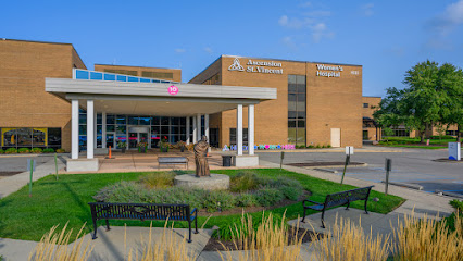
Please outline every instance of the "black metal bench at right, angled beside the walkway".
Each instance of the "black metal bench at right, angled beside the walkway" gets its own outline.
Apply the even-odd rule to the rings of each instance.
[[[325,202],[320,203],[315,202],[309,199],[305,199],[302,201],[302,207],[304,208],[304,217],[302,217],[301,222],[304,222],[305,220],[305,211],[308,209],[322,211],[322,227],[325,228],[325,211],[333,207],[339,207],[347,204],[346,209],[349,209],[350,202],[356,201],[356,200],[365,200],[365,213],[367,214],[368,211],[366,210],[366,203],[368,202],[370,191],[372,190],[372,187],[363,187],[363,188],[355,188],[352,190],[347,190],[342,192],[336,192],[330,194],[326,196]],[[313,206],[306,206],[305,202],[314,203]]]

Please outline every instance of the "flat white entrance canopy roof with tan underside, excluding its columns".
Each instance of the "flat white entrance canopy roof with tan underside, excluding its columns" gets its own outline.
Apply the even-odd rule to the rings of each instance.
[[[71,78],[46,78],[46,91],[79,100],[83,109],[93,100],[96,112],[165,116],[212,114],[276,99],[276,88]]]

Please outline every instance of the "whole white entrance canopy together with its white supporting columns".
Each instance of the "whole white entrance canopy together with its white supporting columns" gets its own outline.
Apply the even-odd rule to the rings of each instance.
[[[93,159],[93,149],[97,148],[97,113],[103,115],[102,148],[105,148],[107,137],[114,137],[111,136],[112,134],[107,136],[104,123],[107,113],[186,117],[186,142],[188,144],[190,117],[193,127],[192,141],[196,142],[201,138],[202,116],[204,116],[204,134],[209,138],[209,114],[232,109],[237,109],[237,152],[238,156],[242,156],[243,105],[248,107],[248,152],[253,156],[254,104],[276,99],[277,94],[276,88],[183,84],[76,69],[73,71],[73,78],[46,78],[46,91],[71,101],[73,160],[78,159],[79,108],[85,109],[87,114],[87,159]],[[114,130],[108,129],[108,132]],[[147,132],[142,134],[148,135]],[[137,135],[140,134],[137,132]],[[138,136],[137,139],[139,139]],[[259,163],[258,158],[252,159],[254,162],[252,164]],[[243,161],[246,163],[246,160]],[[238,165],[240,161],[237,159],[236,162]]]

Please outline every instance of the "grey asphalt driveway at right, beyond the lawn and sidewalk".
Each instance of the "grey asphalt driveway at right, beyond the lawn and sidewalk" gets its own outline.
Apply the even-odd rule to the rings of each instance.
[[[368,147],[365,147],[368,149]],[[259,152],[260,159],[279,163],[279,153]],[[385,159],[392,160],[389,179],[418,184],[425,191],[450,191],[463,195],[463,162],[436,162],[448,157],[447,150],[403,149],[402,152],[361,152],[356,150],[351,161],[365,162],[367,166],[348,166],[346,175],[372,182],[385,179]],[[289,152],[285,153],[284,163],[345,161],[345,152]],[[343,167],[334,167],[337,175],[342,175]],[[340,177],[339,177],[340,181]]]

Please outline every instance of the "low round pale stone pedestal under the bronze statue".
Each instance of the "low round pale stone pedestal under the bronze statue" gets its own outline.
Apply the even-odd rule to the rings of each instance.
[[[230,177],[223,174],[211,174],[209,177],[196,177],[195,174],[175,176],[175,186],[201,188],[205,190],[229,189]]]

